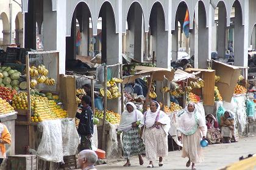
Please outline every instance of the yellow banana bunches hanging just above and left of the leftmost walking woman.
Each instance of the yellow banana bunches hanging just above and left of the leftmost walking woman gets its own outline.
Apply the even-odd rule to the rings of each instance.
[[[116,84],[123,83],[123,80],[121,78],[112,78],[110,81],[107,81],[107,98],[113,99],[121,97],[121,93],[119,92],[119,88]],[[104,97],[104,89],[99,90],[99,94]]]

